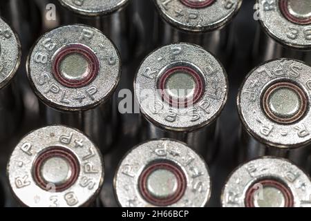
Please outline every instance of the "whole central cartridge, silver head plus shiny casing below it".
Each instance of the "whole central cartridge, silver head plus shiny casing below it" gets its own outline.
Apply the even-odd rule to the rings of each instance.
[[[144,59],[134,87],[142,140],[173,138],[213,158],[228,89],[218,60],[193,44],[164,46]]]

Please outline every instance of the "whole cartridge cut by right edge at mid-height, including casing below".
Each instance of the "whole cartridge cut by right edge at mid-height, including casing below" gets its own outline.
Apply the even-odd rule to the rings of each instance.
[[[305,166],[311,142],[310,73],[300,61],[276,59],[247,75],[237,99],[240,160],[276,155]]]

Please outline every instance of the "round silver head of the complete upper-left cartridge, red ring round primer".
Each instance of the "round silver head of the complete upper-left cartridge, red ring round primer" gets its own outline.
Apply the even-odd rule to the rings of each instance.
[[[68,59],[73,55],[87,65],[71,66],[66,75],[68,68],[62,65],[73,62],[73,57]],[[48,106],[86,111],[111,97],[120,79],[120,66],[119,52],[100,30],[72,25],[51,30],[37,41],[28,56],[27,74],[32,89]],[[77,68],[82,68],[79,76],[73,74]]]

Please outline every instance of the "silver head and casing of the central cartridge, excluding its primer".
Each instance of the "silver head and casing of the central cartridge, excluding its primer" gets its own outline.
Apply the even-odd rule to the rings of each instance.
[[[163,100],[158,81],[170,68],[191,68],[202,82],[202,93],[189,104],[171,105]],[[171,44],[152,52],[140,66],[134,82],[135,97],[142,116],[147,119],[144,138],[170,137],[187,142],[189,146],[206,148],[206,141],[214,137],[218,115],[227,100],[227,75],[223,66],[200,46]],[[187,88],[180,88],[185,92]],[[165,89],[167,90],[167,88]],[[194,103],[194,104],[192,104]],[[144,120],[143,120],[144,121]],[[204,140],[205,142],[200,142]],[[213,140],[213,139],[212,139]],[[201,151],[199,151],[202,153]]]

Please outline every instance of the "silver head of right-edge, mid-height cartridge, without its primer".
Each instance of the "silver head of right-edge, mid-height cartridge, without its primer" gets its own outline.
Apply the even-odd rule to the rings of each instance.
[[[276,59],[254,68],[245,77],[237,98],[238,114],[246,131],[258,142],[277,148],[310,144],[310,71],[311,67],[301,61]],[[290,85],[299,90],[297,97],[302,97],[301,104],[293,117],[269,115],[271,111],[264,108],[267,103],[264,95],[269,95],[267,88],[274,85]],[[285,102],[289,101],[285,99]]]

